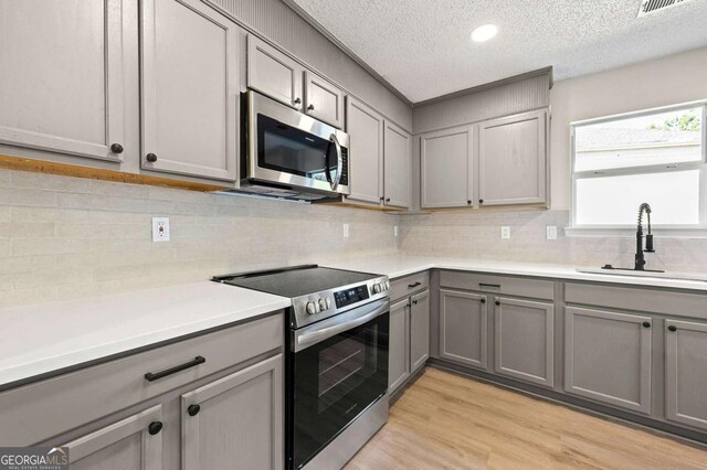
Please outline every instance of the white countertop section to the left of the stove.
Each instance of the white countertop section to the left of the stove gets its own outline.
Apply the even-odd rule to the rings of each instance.
[[[0,386],[287,308],[212,281],[0,309]]]

